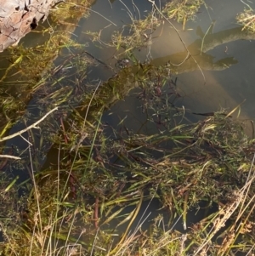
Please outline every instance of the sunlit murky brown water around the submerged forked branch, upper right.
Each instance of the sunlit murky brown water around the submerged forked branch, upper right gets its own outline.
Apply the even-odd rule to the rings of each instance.
[[[214,5],[211,6],[214,10]],[[240,7],[239,4],[235,6],[235,9],[238,9],[238,7]],[[228,17],[225,16],[224,19],[220,17],[216,20],[216,23],[214,21],[216,24],[214,28],[210,27],[212,25],[211,19],[218,18],[218,15],[213,17],[213,14],[215,14],[214,11],[210,18],[206,9],[202,9],[201,14],[197,15],[197,19],[200,20],[199,26],[190,22],[187,25],[189,31],[180,31],[180,35],[194,59],[189,56],[187,58],[187,52],[184,51],[184,46],[180,43],[178,35],[173,28],[165,23],[153,34],[155,39],[149,49],[150,56],[152,56],[151,63],[156,66],[169,62],[173,63],[173,73],[178,74],[179,94],[184,96],[180,104],[184,105],[186,109],[195,112],[210,112],[226,108],[230,111],[246,100],[241,105],[241,118],[252,119],[253,92],[249,84],[252,84],[251,70],[254,61],[252,54],[249,53],[254,51],[252,49],[254,36],[241,31],[241,27],[235,26],[231,29],[225,29],[225,22],[230,19],[230,14]],[[234,21],[235,14],[232,14],[231,17]],[[221,23],[219,24],[219,22]],[[207,27],[205,24],[207,24]],[[224,30],[217,31],[221,25]],[[181,29],[177,24],[175,26],[179,30]],[[160,37],[158,37],[159,35]],[[197,35],[200,38],[197,39]],[[97,51],[96,54],[99,54],[99,59],[108,61],[111,65],[115,64],[115,60],[111,57],[115,54],[114,50],[108,49],[106,55],[104,51],[102,53]],[[143,61],[147,54],[148,50],[144,49],[138,52],[137,56],[139,60]],[[185,58],[188,60],[185,60]],[[179,65],[183,61],[184,63]],[[199,71],[199,67],[201,67],[205,77]],[[245,94],[245,91],[247,94]],[[128,111],[133,113],[139,108],[139,105],[134,105],[133,96],[130,96],[125,99],[122,106],[119,103],[114,111],[125,109],[125,105],[128,106]],[[139,118],[137,117],[137,119]],[[250,127],[247,127],[247,132],[250,133],[249,131]]]

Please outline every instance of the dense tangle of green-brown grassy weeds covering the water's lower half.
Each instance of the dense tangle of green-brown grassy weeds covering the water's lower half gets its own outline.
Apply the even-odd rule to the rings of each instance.
[[[167,82],[154,80],[152,71],[147,82],[162,86],[161,94],[154,95],[157,99],[153,102],[158,105],[158,100],[168,94],[163,89]],[[155,72],[158,78],[158,70]],[[145,76],[146,72],[142,74]],[[143,81],[141,91],[151,95],[154,90],[146,91],[146,80]],[[94,100],[101,98],[97,92],[102,93],[95,90]],[[112,128],[111,136],[106,137],[107,126],[100,121],[101,112],[96,119],[87,119],[98,112],[96,102],[102,104],[90,100],[85,114],[82,109],[74,110],[70,122],[61,124],[61,132],[54,140],[59,157],[50,168],[34,173],[31,159],[31,184],[26,183],[31,192],[23,201],[26,214],[22,214],[20,222],[13,219],[14,229],[9,230],[8,223],[2,222],[6,254],[71,255],[76,251],[102,256],[190,252],[225,255],[237,251],[235,244],[244,252],[250,249],[249,237],[253,234],[249,230],[255,215],[253,144],[243,134],[241,125],[222,111],[195,124],[167,127],[163,133],[150,136],[128,132],[122,120],[122,129]],[[163,107],[153,109],[153,105],[150,110],[158,114],[166,111]],[[168,115],[173,110],[177,111],[169,108]],[[147,233],[142,225],[146,217],[131,229],[141,203],[149,204],[153,198],[168,208],[170,225],[174,216],[181,216],[187,229],[185,236],[167,229],[160,216]],[[218,212],[188,229],[186,215],[201,200],[209,205],[218,203]],[[123,216],[131,206],[133,211]],[[127,225],[119,239],[117,231],[108,228],[113,220],[117,228]],[[222,231],[227,221],[231,223],[231,237]],[[224,237],[222,247],[215,242],[218,232]],[[238,242],[240,236],[246,243]]]

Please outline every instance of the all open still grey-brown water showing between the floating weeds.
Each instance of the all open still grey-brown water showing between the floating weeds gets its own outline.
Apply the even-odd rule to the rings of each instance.
[[[139,9],[139,13],[133,7],[133,2]],[[192,112],[207,113],[219,111],[222,108],[231,111],[241,105],[239,118],[244,121],[254,120],[255,41],[252,36],[241,33],[241,28],[235,20],[236,14],[244,9],[244,4],[241,1],[233,0],[207,0],[206,2],[207,6],[201,7],[195,20],[187,22],[185,31],[182,31],[180,24],[172,21],[179,35],[167,22],[157,27],[153,33],[152,44],[148,48],[137,51],[136,58],[141,62],[147,61],[153,65],[163,65],[167,61],[178,65],[185,58],[185,48],[180,41],[180,36],[194,57],[187,61],[186,66],[177,69],[174,74],[174,77],[177,77],[176,89],[180,95],[175,101],[175,105],[187,113],[187,119],[190,122],[197,120],[198,117],[192,115]],[[156,4],[160,7],[161,3],[157,1]],[[252,5],[252,3],[250,4]],[[255,8],[253,5],[252,8]],[[111,40],[113,31],[121,30],[123,25],[131,23],[129,12],[134,18],[139,15],[142,18],[150,9],[150,3],[145,0],[98,0],[94,2],[88,18],[82,18],[78,20],[77,26],[70,27],[71,37],[74,40],[77,40],[78,43],[88,44],[86,50],[89,54],[112,67],[112,70],[105,68],[104,65],[91,67],[87,81],[106,81],[114,76],[117,54],[119,54],[116,52],[116,48],[105,46],[104,43],[93,42],[88,31],[100,31],[100,39],[107,43]],[[210,26],[212,29],[207,33]],[[202,38],[206,33],[207,40],[205,40],[204,52],[201,53]],[[43,42],[43,40],[43,37],[31,33],[20,43],[23,43],[24,46],[31,46]],[[201,70],[194,60],[200,65]],[[58,59],[55,60],[56,65],[58,61]],[[37,119],[40,109],[39,106],[37,109],[35,105],[37,105],[37,99],[31,99],[27,109],[32,109],[33,116]],[[125,99],[117,101],[115,105],[111,106],[111,109],[105,111],[102,120],[111,127],[117,128],[117,124],[123,118],[125,118],[127,129],[132,130],[133,133],[153,134],[157,132],[155,123],[148,122],[148,117],[142,111],[142,104],[137,97],[136,88],[131,90]],[[17,124],[10,133],[19,131],[20,128],[23,126]],[[252,135],[249,122],[246,122],[246,132]],[[13,144],[18,144],[20,149],[26,148],[26,143],[22,139],[8,141],[8,145]],[[42,159],[43,162],[44,159]],[[148,211],[153,212],[156,208],[160,208],[157,202],[152,202]],[[167,213],[163,212],[163,214]],[[191,216],[188,217],[190,223],[197,221],[195,219],[197,217],[194,217],[195,213],[189,216]],[[181,220],[179,224],[181,224]],[[180,227],[179,229],[181,230]]]

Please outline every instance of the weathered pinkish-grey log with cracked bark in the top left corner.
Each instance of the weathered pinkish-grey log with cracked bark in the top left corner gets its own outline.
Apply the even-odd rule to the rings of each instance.
[[[0,0],[0,52],[44,21],[58,0]]]

